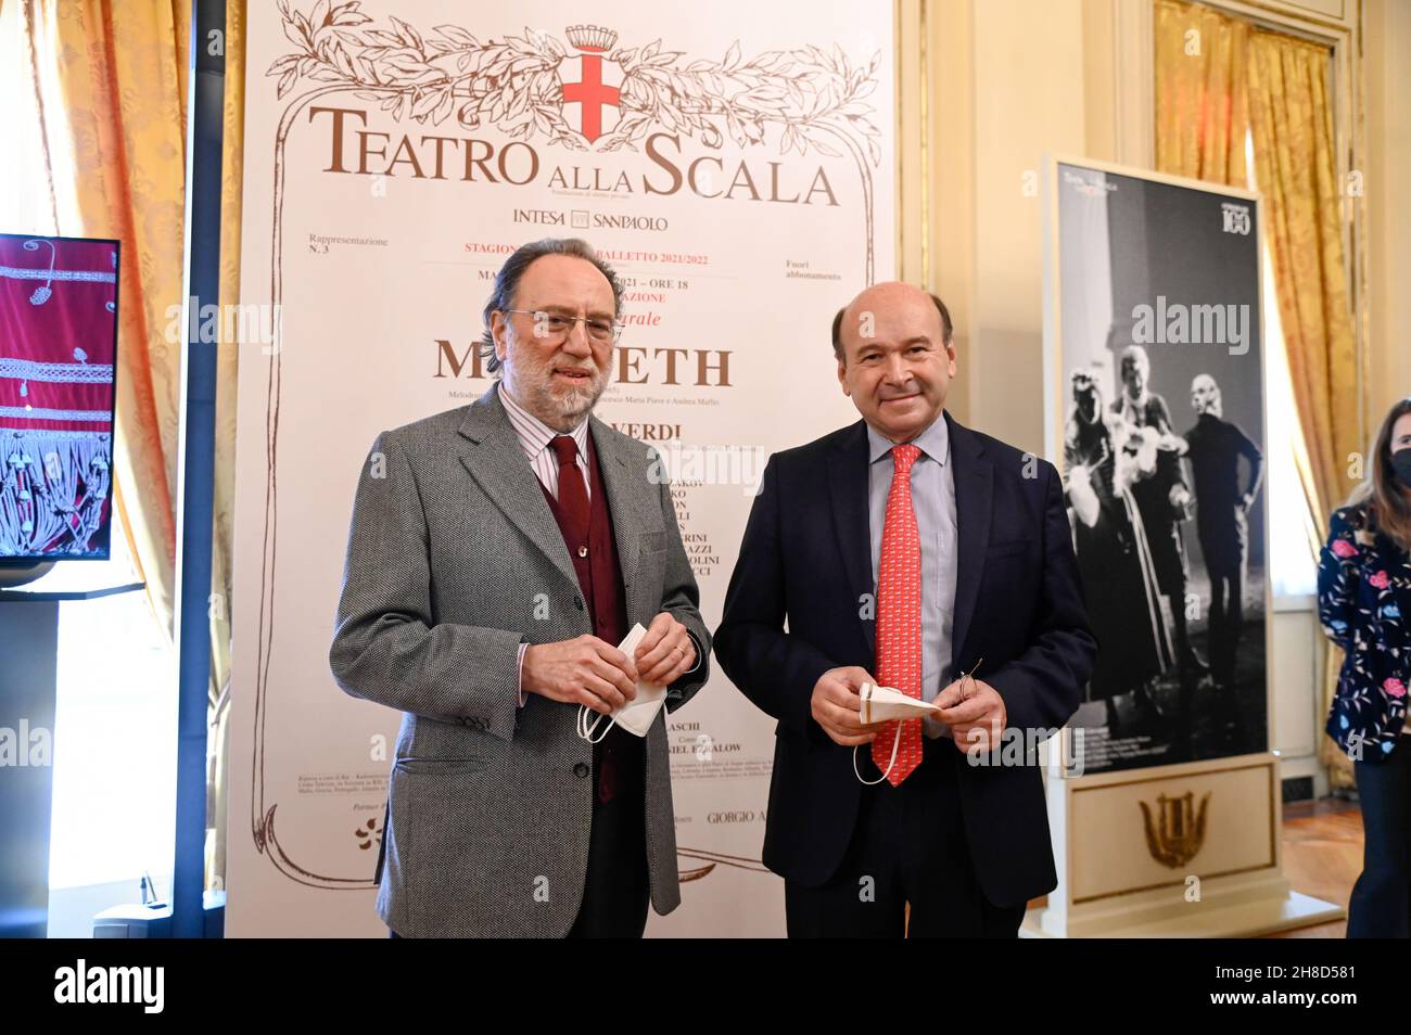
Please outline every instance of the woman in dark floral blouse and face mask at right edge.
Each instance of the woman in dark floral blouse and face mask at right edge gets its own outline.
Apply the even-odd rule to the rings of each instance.
[[[1332,516],[1318,616],[1346,651],[1328,735],[1357,773],[1366,832],[1349,938],[1411,935],[1411,399],[1381,423],[1371,471]],[[1405,736],[1404,736],[1405,735]]]

